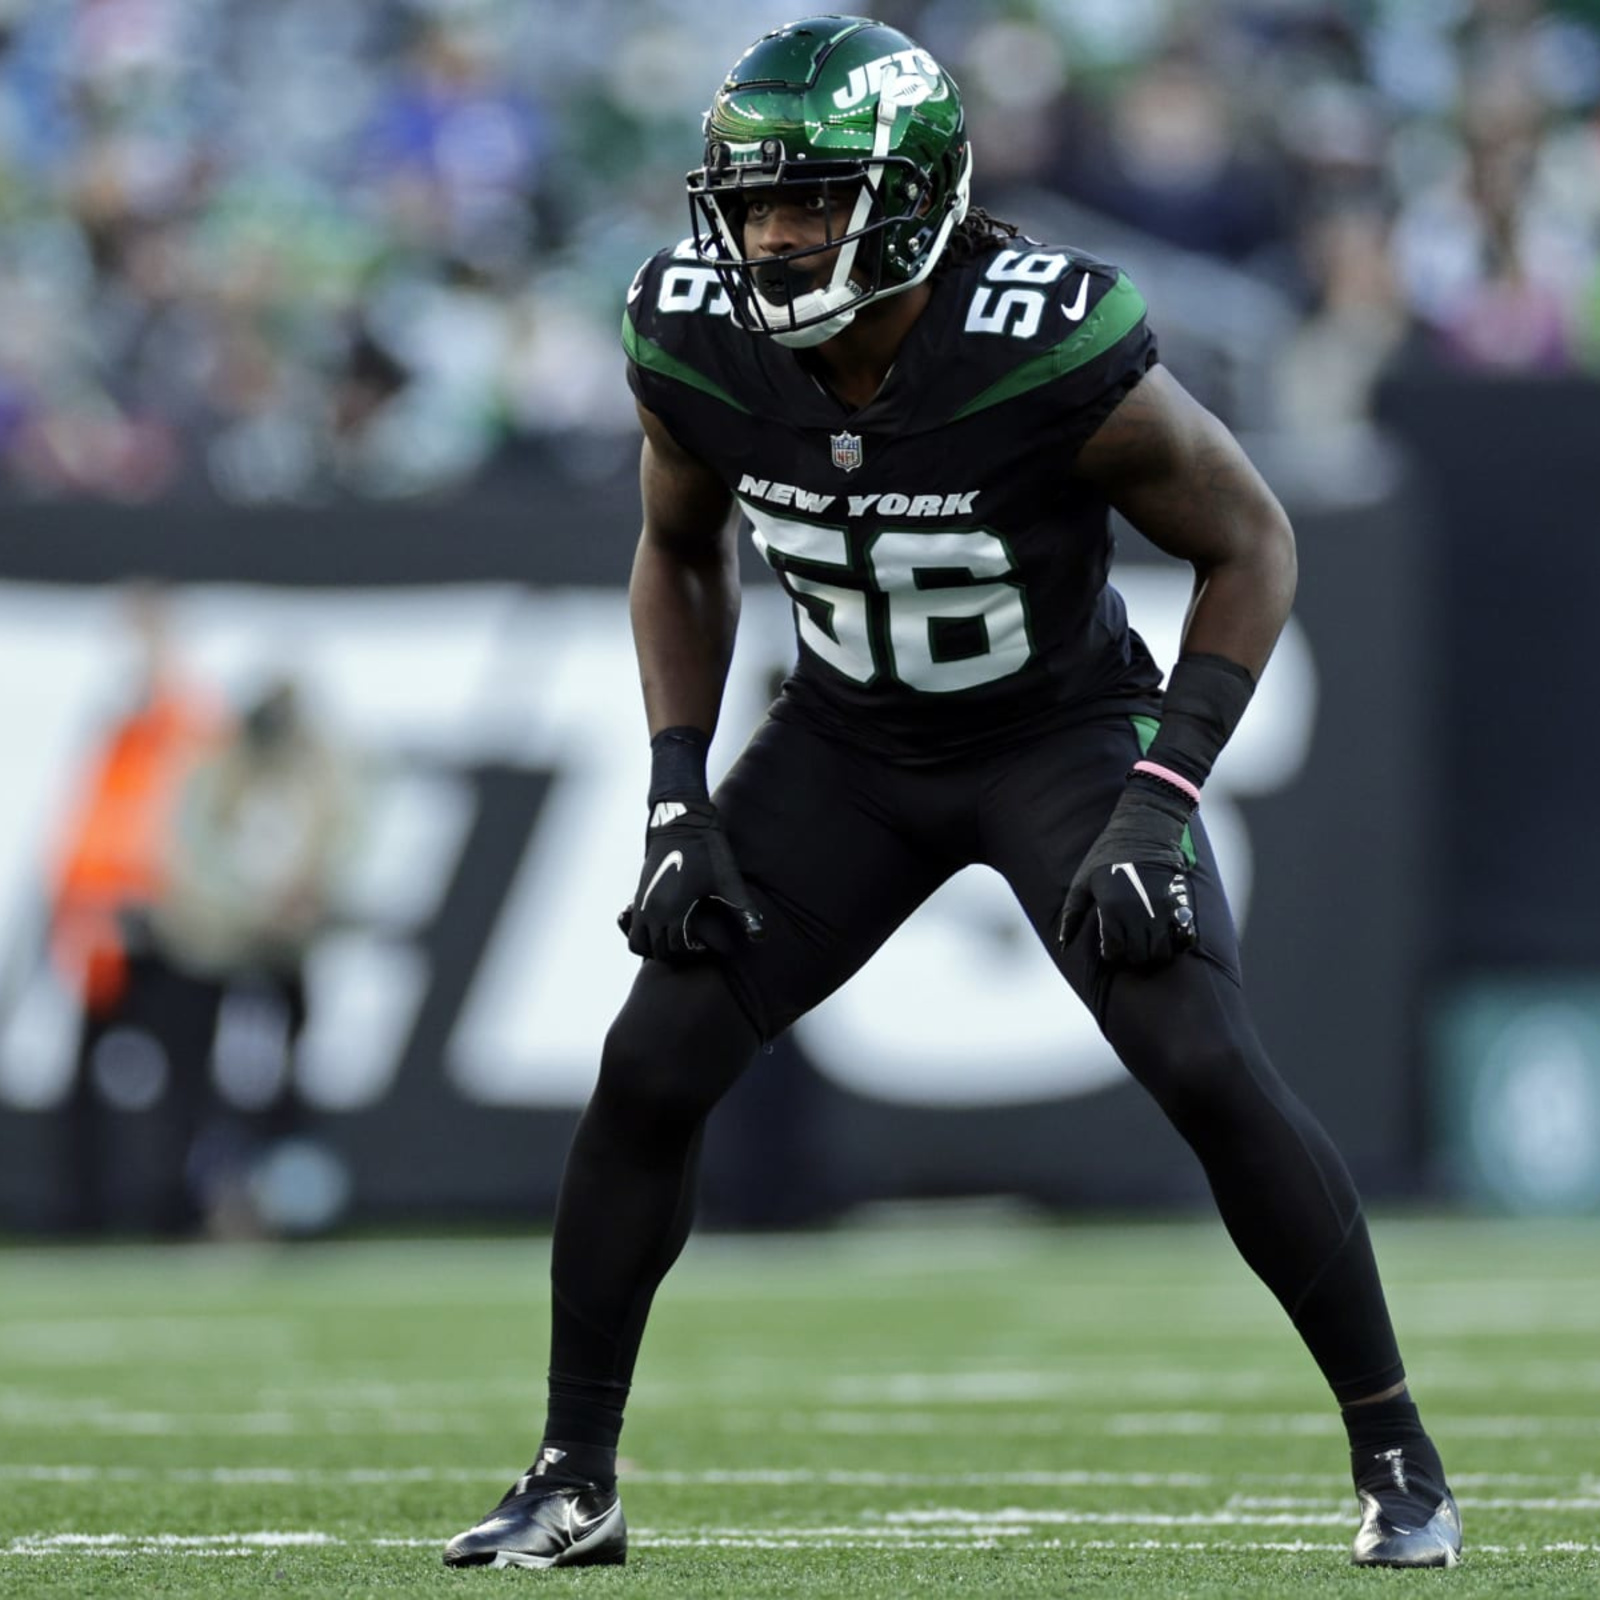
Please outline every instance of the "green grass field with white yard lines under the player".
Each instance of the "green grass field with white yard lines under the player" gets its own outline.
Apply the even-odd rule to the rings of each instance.
[[[0,1595],[1600,1594],[1600,1227],[1374,1224],[1467,1531],[1347,1565],[1344,1440],[1210,1219],[701,1238],[622,1570],[446,1571],[536,1443],[546,1243],[0,1251]]]

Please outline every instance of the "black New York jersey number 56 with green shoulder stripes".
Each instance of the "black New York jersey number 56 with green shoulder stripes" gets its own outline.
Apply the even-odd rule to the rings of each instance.
[[[896,760],[1013,742],[1160,672],[1107,582],[1080,445],[1155,362],[1117,267],[1018,238],[949,262],[878,394],[850,410],[803,352],[742,331],[693,242],[629,288],[629,382],[738,496],[795,606],[774,715]]]

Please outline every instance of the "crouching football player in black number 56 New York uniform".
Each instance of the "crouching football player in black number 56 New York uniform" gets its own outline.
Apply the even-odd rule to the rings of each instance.
[[[624,1560],[622,1408],[704,1120],[973,862],[1187,1139],[1326,1378],[1354,1560],[1458,1558],[1360,1200],[1256,1038],[1202,824],[1290,611],[1288,520],[1160,365],[1128,277],[974,210],[970,179],[928,51],[861,18],[794,22],[717,91],[694,234],[627,291],[653,768],[621,920],[645,960],[557,1208],[544,1440],[451,1565]],[[1107,582],[1110,507],[1194,566],[1165,691]],[[798,661],[710,794],[746,523]]]

